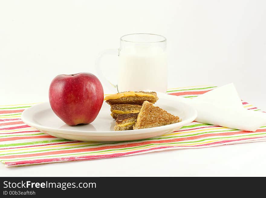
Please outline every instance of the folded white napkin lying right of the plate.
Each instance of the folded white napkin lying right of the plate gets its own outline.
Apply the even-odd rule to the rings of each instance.
[[[174,97],[196,108],[198,122],[246,131],[266,125],[266,113],[245,109],[233,83],[194,99]]]

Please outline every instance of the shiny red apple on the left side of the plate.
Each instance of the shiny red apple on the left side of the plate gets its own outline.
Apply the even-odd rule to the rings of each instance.
[[[102,84],[91,73],[58,75],[50,84],[49,102],[54,113],[66,124],[89,124],[102,107]]]

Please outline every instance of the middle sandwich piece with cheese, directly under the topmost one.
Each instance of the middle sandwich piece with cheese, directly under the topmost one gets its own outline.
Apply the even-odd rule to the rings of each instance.
[[[120,114],[138,113],[141,105],[115,104],[111,106],[111,116],[116,119]]]

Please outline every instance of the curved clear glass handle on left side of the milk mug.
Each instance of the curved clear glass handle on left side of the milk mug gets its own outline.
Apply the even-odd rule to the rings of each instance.
[[[101,61],[102,61],[102,57],[104,57],[105,55],[117,55],[117,56],[119,56],[119,49],[105,49],[104,51],[99,53],[98,57],[96,58],[96,62],[95,62],[95,68],[96,68],[96,71],[99,75],[101,82],[107,88],[109,88],[110,91],[118,92],[117,85],[112,83],[110,80],[108,80],[102,72]]]

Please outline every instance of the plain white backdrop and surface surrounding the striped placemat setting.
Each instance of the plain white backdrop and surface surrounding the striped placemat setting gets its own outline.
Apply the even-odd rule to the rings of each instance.
[[[118,48],[120,36],[155,33],[167,38],[169,87],[234,82],[242,99],[265,110],[265,8],[263,0],[2,0],[0,103],[45,102],[56,75],[96,74],[96,56]],[[17,168],[0,164],[0,175],[266,176],[265,150],[260,142]]]

